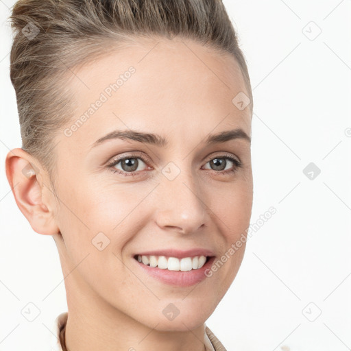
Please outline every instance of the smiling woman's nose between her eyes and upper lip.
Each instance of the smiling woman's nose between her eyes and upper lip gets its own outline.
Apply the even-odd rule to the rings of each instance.
[[[162,179],[157,189],[156,223],[162,230],[191,234],[206,226],[204,184],[196,182],[184,171],[174,180]]]

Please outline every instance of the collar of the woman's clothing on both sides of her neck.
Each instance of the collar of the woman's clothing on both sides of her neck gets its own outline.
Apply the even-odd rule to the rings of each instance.
[[[58,317],[56,317],[53,322],[52,332],[52,342],[50,351],[67,351],[64,346],[64,332],[66,331],[66,322],[68,318],[68,312],[63,312]],[[221,344],[221,342],[215,337],[213,332],[205,324],[204,333],[204,344],[206,346],[206,351],[226,351],[226,348]]]

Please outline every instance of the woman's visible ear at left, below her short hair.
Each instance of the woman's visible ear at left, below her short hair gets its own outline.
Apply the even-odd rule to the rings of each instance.
[[[47,189],[51,184],[45,183],[49,177],[45,177],[47,173],[40,163],[25,150],[16,148],[6,156],[5,167],[16,204],[33,230],[46,235],[60,232],[54,218],[53,195]]]

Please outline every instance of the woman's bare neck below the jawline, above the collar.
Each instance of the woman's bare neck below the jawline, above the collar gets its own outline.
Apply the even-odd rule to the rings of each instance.
[[[117,310],[93,291],[66,286],[69,309],[65,330],[67,351],[204,351],[205,326],[164,331],[145,326]],[[88,291],[88,292],[87,292]]]

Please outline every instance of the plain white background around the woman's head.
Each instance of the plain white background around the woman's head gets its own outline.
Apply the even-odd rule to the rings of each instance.
[[[351,1],[224,3],[254,93],[251,223],[270,206],[277,213],[247,241],[206,325],[228,351],[350,350]],[[13,4],[0,0],[0,350],[44,350],[66,295],[53,239],[32,230],[5,178],[6,154],[21,147]],[[313,180],[310,162],[321,170]],[[40,308],[32,323],[21,315],[28,302]]]

